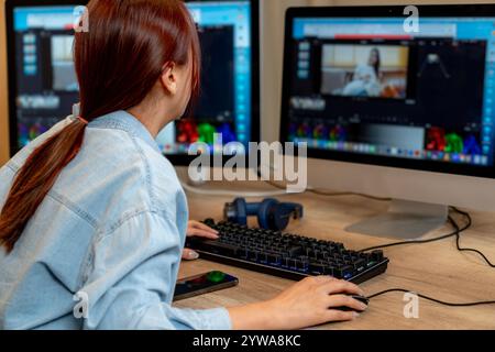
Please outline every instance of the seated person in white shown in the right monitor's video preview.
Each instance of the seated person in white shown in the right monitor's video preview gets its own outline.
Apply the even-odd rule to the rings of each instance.
[[[352,81],[344,87],[342,95],[380,97],[382,91],[381,77],[381,55],[378,48],[374,47],[370,51],[367,63],[355,68]]]

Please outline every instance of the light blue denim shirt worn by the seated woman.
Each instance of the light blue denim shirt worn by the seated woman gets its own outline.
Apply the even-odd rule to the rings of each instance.
[[[0,169],[0,207],[33,148],[73,119]],[[170,306],[187,220],[144,125],[124,111],[92,121],[14,250],[0,248],[0,329],[230,329],[224,308]]]

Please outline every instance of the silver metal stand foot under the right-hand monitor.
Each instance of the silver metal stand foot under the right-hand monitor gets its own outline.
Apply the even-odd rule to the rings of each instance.
[[[446,224],[447,206],[395,199],[386,213],[354,223],[345,231],[378,238],[414,240]]]

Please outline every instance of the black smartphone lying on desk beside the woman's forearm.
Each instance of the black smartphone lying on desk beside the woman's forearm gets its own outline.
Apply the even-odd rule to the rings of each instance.
[[[239,279],[222,272],[209,272],[177,280],[174,301],[237,286]]]

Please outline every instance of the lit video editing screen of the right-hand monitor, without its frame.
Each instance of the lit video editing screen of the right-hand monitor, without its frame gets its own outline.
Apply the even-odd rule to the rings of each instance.
[[[308,147],[494,165],[495,18],[296,18],[287,138]]]

